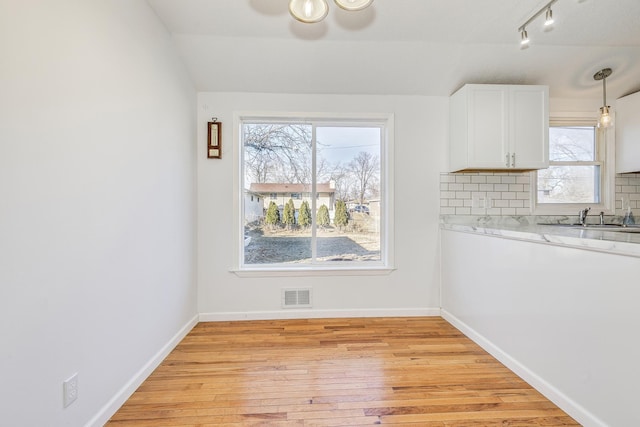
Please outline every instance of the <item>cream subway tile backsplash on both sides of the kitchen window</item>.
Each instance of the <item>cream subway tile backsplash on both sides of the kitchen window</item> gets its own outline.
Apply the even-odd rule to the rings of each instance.
[[[640,215],[640,174],[616,175],[616,215]],[[529,172],[440,174],[441,215],[531,215]],[[624,206],[623,206],[624,203]]]

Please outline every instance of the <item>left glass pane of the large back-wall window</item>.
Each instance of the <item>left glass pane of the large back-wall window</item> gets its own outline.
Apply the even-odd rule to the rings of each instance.
[[[311,137],[307,124],[243,124],[245,264],[311,260],[311,231],[299,222],[311,203]]]

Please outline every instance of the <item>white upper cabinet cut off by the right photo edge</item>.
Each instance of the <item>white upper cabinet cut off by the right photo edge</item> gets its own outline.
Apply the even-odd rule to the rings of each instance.
[[[616,101],[616,172],[640,171],[640,92]]]

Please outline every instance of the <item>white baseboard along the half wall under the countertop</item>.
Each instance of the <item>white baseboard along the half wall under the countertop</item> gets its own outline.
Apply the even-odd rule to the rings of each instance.
[[[449,313],[445,309],[442,309],[441,313],[442,317],[447,322],[451,323],[453,326],[459,329],[469,339],[474,341],[489,354],[498,359],[503,365],[511,369],[516,375],[529,383],[529,385],[542,393],[547,399],[555,403],[558,407],[560,407],[560,409],[565,411],[580,424],[585,427],[607,427],[607,424],[605,424],[591,412],[587,411],[583,406],[579,405],[577,402],[562,393],[552,384],[547,382],[544,378],[541,378],[539,375],[532,372],[525,365],[518,362],[508,353],[503,351],[500,347],[493,344],[489,339],[476,332],[473,328],[458,319],[456,316]]]

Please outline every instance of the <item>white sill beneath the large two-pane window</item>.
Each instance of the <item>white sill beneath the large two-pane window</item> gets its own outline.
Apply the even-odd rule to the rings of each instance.
[[[395,267],[366,268],[245,268],[231,269],[238,277],[317,277],[317,276],[385,276],[396,270]]]

